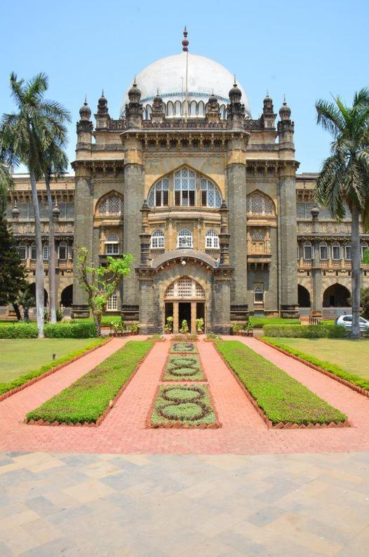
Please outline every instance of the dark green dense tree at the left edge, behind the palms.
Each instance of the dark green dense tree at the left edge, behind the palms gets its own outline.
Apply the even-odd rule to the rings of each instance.
[[[16,300],[25,286],[25,268],[16,241],[3,213],[0,213],[0,305],[15,304],[16,311]]]

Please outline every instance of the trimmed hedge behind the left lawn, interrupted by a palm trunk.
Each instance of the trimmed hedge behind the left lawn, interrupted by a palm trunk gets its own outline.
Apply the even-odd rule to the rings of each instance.
[[[43,328],[46,338],[93,338],[96,328],[93,323],[48,323]],[[36,338],[36,323],[15,323],[0,327],[0,338]]]

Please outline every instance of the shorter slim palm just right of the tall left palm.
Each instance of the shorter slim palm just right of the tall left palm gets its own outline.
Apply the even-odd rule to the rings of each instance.
[[[69,114],[66,116],[69,120]],[[48,198],[48,246],[50,258],[48,263],[48,290],[50,300],[50,321],[56,323],[56,250],[55,250],[55,227],[53,215],[53,196],[51,195],[51,177],[58,177],[67,171],[68,159],[62,148],[53,142],[46,151],[46,168],[44,172],[46,194]]]

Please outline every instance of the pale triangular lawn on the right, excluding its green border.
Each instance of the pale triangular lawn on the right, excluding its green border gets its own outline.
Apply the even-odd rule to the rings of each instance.
[[[335,338],[267,338],[268,342],[277,341],[283,345],[299,351],[307,356],[333,365],[352,375],[358,375],[368,380],[369,387],[369,339],[349,340]],[[297,354],[299,356],[300,354]],[[303,358],[304,355],[301,354]],[[312,362],[316,363],[316,362]],[[319,365],[316,363],[316,365]],[[346,377],[345,377],[346,378]],[[367,388],[368,388],[367,387]]]

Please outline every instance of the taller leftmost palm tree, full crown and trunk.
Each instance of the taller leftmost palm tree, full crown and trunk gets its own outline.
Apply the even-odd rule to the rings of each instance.
[[[53,142],[62,145],[67,130],[64,125],[65,109],[55,101],[44,100],[48,88],[46,74],[38,74],[25,82],[11,74],[11,95],[16,112],[4,114],[1,119],[1,135],[4,145],[11,153],[14,163],[23,163],[29,171],[34,206],[34,229],[36,242],[36,316],[39,337],[43,337],[43,260],[41,220],[36,182],[46,168],[46,152]]]

